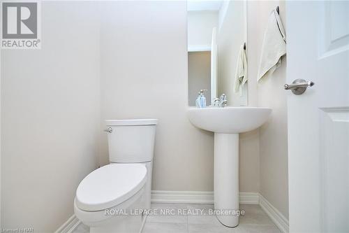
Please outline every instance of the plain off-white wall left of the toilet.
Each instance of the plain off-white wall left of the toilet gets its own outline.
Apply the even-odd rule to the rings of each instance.
[[[92,2],[42,3],[42,49],[1,51],[1,223],[54,232],[96,169],[98,17]]]

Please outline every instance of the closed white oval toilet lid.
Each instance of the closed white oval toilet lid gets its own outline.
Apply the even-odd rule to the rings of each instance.
[[[80,182],[75,203],[84,211],[108,209],[135,195],[146,181],[143,164],[108,164]]]

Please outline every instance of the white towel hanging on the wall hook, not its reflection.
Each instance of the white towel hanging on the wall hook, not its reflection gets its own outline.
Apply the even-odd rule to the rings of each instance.
[[[257,80],[273,73],[281,65],[281,57],[285,54],[285,30],[279,13],[273,10],[264,34]]]

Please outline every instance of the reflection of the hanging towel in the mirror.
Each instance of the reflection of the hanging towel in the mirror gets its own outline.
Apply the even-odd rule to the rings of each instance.
[[[237,58],[237,69],[235,71],[234,92],[240,92],[242,96],[242,90],[244,84],[247,82],[247,60],[244,45],[241,46],[239,57]]]

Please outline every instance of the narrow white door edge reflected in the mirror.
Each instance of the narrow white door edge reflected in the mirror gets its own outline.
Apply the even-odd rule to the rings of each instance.
[[[217,36],[216,27],[212,29],[211,41],[211,99],[210,104],[217,98]]]

